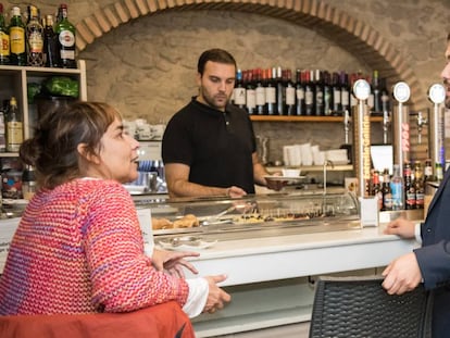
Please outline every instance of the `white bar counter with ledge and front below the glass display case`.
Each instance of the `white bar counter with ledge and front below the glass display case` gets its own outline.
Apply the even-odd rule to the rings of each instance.
[[[258,233],[255,233],[255,237]],[[378,274],[417,243],[382,227],[218,241],[195,259],[199,275],[227,274],[232,302],[193,321],[198,337],[308,322],[317,275]]]

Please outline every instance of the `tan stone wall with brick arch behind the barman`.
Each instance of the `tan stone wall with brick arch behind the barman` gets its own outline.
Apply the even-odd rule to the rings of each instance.
[[[22,9],[27,4],[16,3]],[[53,13],[60,2],[34,3],[46,14]],[[371,73],[379,64],[382,76],[411,79],[410,85],[417,88],[415,101],[420,102],[415,110],[427,108],[426,90],[440,82],[445,39],[450,30],[448,0],[254,1],[261,5],[253,12],[248,7],[220,7],[221,1],[198,7],[178,3],[185,2],[68,3],[70,18],[83,41],[78,57],[87,61],[89,100],[108,101],[126,118],[165,122],[196,95],[198,55],[212,47],[230,51],[241,68],[283,65]],[[3,4],[8,8],[12,2]],[[296,7],[309,15],[292,16],[280,10]],[[107,23],[102,15],[109,17]],[[317,22],[314,15],[323,20]],[[363,49],[342,35],[342,27],[350,27],[354,21],[364,29],[355,34],[357,25],[352,34],[370,48]],[[384,53],[393,51],[397,54],[390,55],[390,63],[378,62]],[[397,66],[398,72],[387,65],[393,65],[393,71]],[[330,149],[343,142],[341,124],[255,123],[254,128],[257,134],[270,137],[271,160],[280,158],[286,143],[308,141]],[[380,142],[380,125],[374,124],[373,130],[374,142]]]

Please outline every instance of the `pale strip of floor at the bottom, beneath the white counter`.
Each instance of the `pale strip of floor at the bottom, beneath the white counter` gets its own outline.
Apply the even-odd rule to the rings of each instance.
[[[215,338],[308,338],[309,323],[285,325],[273,328],[259,329],[242,334],[225,335]]]

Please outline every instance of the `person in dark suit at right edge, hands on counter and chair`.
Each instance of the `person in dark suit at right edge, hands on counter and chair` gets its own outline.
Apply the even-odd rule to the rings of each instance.
[[[450,34],[447,37],[447,64],[441,73],[450,108]],[[383,272],[383,287],[390,295],[413,290],[420,283],[434,293],[433,337],[450,337],[450,171],[436,191],[424,223],[404,218],[389,223],[385,234],[417,238],[421,248],[391,262]]]

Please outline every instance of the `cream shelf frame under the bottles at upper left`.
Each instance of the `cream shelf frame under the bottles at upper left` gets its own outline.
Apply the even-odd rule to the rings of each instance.
[[[77,68],[0,65],[0,98],[7,100],[14,96],[17,99],[24,125],[24,139],[32,136],[33,126],[37,121],[36,104],[28,102],[28,84],[41,84],[45,79],[58,75],[77,79],[79,82],[79,99],[87,100],[86,63],[84,60],[78,60]],[[14,157],[17,157],[17,153],[0,153],[0,158]]]

